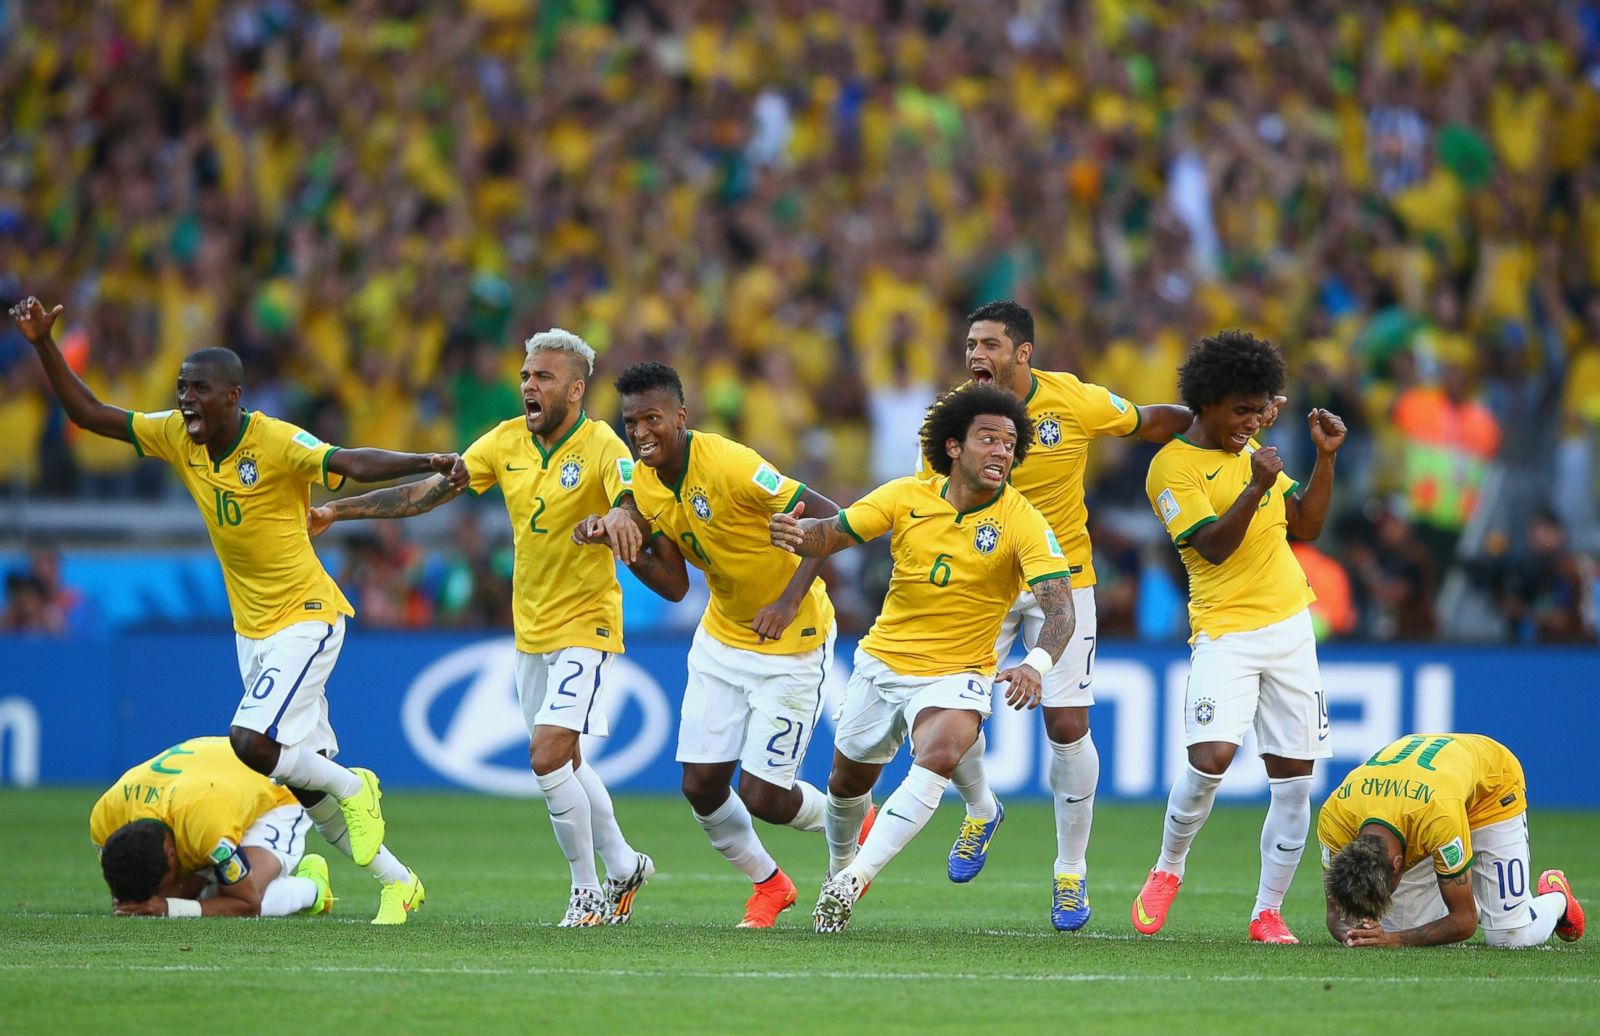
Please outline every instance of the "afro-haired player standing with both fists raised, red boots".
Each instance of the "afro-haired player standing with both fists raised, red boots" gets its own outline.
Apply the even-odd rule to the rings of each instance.
[[[1331,755],[1328,708],[1307,606],[1315,600],[1288,536],[1317,539],[1333,500],[1333,459],[1344,422],[1323,409],[1307,420],[1317,464],[1304,491],[1277,449],[1254,435],[1286,379],[1277,347],[1246,331],[1203,337],[1178,371],[1194,425],[1155,454],[1150,507],[1189,569],[1189,766],[1166,799],[1162,854],[1133,902],[1133,926],[1152,935],[1184,878],[1189,846],[1245,734],[1267,767],[1270,806],[1261,828],[1254,942],[1298,942],[1283,922],[1310,825],[1310,775]]]

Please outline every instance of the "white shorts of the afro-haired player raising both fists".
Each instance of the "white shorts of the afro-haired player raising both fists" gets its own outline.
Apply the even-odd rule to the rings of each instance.
[[[1242,745],[1250,729],[1256,731],[1261,755],[1285,759],[1333,755],[1309,611],[1259,630],[1216,640],[1195,636],[1184,692],[1184,745]]]

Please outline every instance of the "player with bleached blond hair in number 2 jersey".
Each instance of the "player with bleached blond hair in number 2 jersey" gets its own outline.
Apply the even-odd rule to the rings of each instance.
[[[462,454],[472,476],[467,492],[499,484],[510,518],[517,699],[528,723],[528,761],[573,876],[560,927],[622,924],[656,867],[622,836],[611,795],[578,747],[582,734],[606,734],[602,699],[611,660],[622,652],[622,588],[611,558],[582,550],[568,529],[632,492],[634,460],[610,425],[584,414],[594,349],[550,328],[523,350],[523,414]],[[421,515],[459,492],[434,475],[333,500],[312,508],[312,534],[347,518]],[[595,849],[608,875],[603,886]]]

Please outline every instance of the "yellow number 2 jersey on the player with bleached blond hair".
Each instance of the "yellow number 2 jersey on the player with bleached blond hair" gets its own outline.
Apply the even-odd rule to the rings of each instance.
[[[573,529],[632,492],[634,459],[611,425],[582,412],[549,452],[522,417],[485,432],[467,452],[472,496],[499,484],[510,515],[517,649],[622,651],[622,588],[610,552],[579,547]]]

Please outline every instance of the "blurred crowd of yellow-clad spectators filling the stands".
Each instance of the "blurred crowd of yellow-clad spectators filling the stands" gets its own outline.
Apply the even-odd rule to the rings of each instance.
[[[0,296],[64,302],[59,339],[109,401],[160,408],[186,352],[226,344],[250,406],[325,440],[464,448],[518,412],[518,341],[560,325],[600,353],[590,414],[616,417],[627,363],[672,363],[694,425],[848,500],[912,464],[979,302],[1019,299],[1040,366],[1146,403],[1176,396],[1187,342],[1243,326],[1283,345],[1291,409],[1352,427],[1336,528],[1301,547],[1330,636],[1595,636],[1597,3],[122,0],[0,21]],[[171,492],[64,427],[14,333],[0,435],[13,491]],[[1274,440],[1310,464],[1304,422]],[[1147,456],[1093,452],[1107,635],[1182,628]],[[357,592],[395,598],[368,617],[504,619],[472,585],[502,544],[373,564],[394,537],[350,548]],[[874,568],[845,574],[867,619]]]

